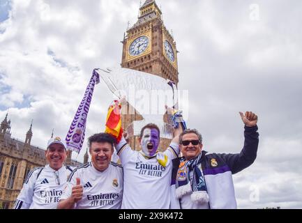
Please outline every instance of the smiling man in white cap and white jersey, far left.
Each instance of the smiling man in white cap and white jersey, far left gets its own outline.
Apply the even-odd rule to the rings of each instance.
[[[45,167],[31,170],[24,181],[22,190],[15,202],[15,209],[54,209],[56,208],[66,180],[73,171],[64,166],[66,143],[60,137],[48,141]]]

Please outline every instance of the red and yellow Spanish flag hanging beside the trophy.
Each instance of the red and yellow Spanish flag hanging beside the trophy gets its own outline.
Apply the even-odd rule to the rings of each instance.
[[[107,113],[105,132],[116,138],[116,143],[121,141],[123,128],[121,128],[121,102],[114,100]]]

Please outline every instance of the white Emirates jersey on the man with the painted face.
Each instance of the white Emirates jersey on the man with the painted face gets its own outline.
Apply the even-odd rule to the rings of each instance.
[[[178,156],[179,145],[171,143],[164,152],[166,167],[156,157],[146,159],[133,151],[125,139],[116,146],[124,172],[123,203],[126,209],[168,209],[170,205],[171,160]]]

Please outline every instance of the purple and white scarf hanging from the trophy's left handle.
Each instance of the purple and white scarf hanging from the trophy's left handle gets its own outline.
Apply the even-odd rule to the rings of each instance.
[[[69,131],[66,135],[66,145],[67,148],[80,153],[82,148],[84,138],[85,138],[85,129],[86,129],[86,120],[89,112],[90,102],[93,95],[94,85],[100,82],[100,77],[96,72],[96,69],[93,70],[90,82],[86,88],[84,98],[77,108],[77,113],[75,113],[75,118],[70,125]]]

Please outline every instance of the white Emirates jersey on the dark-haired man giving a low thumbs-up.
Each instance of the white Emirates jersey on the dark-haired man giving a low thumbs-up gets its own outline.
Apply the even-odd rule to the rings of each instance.
[[[83,186],[83,197],[75,204],[76,209],[121,208],[123,168],[119,164],[110,162],[103,172],[95,169],[91,162],[78,167],[70,174],[61,199],[71,196],[76,178],[80,178],[80,185]]]

